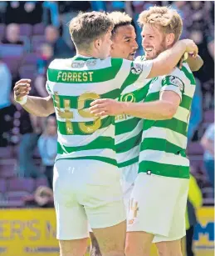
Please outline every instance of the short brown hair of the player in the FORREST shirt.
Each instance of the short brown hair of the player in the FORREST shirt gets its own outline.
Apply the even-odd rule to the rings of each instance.
[[[71,39],[79,49],[89,48],[90,43],[113,27],[112,20],[100,12],[79,13],[69,25]]]

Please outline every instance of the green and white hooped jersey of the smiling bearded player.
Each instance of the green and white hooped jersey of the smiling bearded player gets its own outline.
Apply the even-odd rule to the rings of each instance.
[[[167,76],[154,78],[144,102],[159,100],[162,91],[173,91],[181,98],[178,110],[168,120],[144,119],[139,153],[139,173],[153,173],[173,178],[189,178],[186,158],[190,108],[195,79],[187,63]]]

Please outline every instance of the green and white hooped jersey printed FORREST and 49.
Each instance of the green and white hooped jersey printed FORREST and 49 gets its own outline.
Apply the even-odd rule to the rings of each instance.
[[[116,165],[114,117],[89,113],[98,98],[119,98],[131,80],[143,83],[151,62],[77,55],[55,59],[47,70],[47,92],[53,98],[58,128],[58,159],[95,159]]]

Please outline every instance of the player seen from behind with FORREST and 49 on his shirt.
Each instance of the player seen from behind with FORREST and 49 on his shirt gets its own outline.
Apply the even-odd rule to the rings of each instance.
[[[53,188],[61,256],[86,252],[87,221],[102,255],[124,255],[125,207],[115,161],[113,118],[93,116],[90,103],[97,98],[117,98],[128,86],[126,78],[143,86],[145,78],[169,73],[184,52],[198,53],[193,41],[186,39],[144,63],[107,58],[112,28],[105,13],[79,14],[70,23],[77,55],[54,60],[47,71],[46,88],[58,124]],[[16,100],[27,110],[41,103],[43,111],[49,99],[22,97],[30,86],[27,82],[17,82]]]

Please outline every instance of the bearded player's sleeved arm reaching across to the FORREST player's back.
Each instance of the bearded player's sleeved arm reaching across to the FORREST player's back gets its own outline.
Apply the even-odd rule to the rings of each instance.
[[[181,102],[184,83],[175,76],[178,68],[161,81],[159,100],[149,103],[117,102],[112,99],[98,99],[91,103],[90,112],[96,116],[128,114],[137,118],[165,120],[173,118]]]

